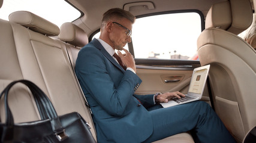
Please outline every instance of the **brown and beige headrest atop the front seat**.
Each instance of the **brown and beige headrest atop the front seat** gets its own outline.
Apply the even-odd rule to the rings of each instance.
[[[230,0],[212,5],[206,15],[206,29],[215,27],[238,35],[252,23],[249,0]]]

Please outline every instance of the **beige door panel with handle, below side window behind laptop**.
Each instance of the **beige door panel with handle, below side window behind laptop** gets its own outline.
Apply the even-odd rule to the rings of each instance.
[[[143,81],[135,94],[155,94],[156,92],[180,91],[188,93],[189,83],[194,68],[137,66],[137,75]],[[206,85],[201,101],[210,104]]]

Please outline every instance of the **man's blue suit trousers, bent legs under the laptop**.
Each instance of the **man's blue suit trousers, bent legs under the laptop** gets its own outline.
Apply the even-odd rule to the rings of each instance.
[[[190,130],[195,142],[236,142],[209,104],[195,101],[173,107],[149,108],[153,133],[144,142],[153,142]]]

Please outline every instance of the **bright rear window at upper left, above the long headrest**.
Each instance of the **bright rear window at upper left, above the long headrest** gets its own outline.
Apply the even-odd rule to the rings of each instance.
[[[64,0],[7,0],[4,1],[0,9],[0,18],[8,20],[8,16],[14,11],[29,11],[59,27],[61,24],[74,21],[82,15],[79,10]]]

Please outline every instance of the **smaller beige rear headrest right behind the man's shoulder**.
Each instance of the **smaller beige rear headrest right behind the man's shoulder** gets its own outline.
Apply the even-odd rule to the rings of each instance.
[[[62,24],[59,39],[79,47],[83,47],[88,43],[88,36],[85,31],[73,23]]]

